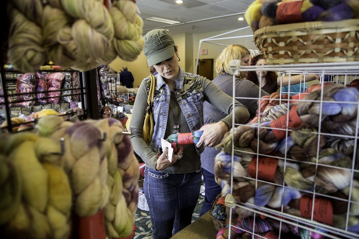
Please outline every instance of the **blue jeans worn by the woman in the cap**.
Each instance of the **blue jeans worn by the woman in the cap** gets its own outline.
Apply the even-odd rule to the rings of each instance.
[[[201,188],[201,169],[171,174],[145,168],[144,193],[153,238],[167,239],[191,224]]]

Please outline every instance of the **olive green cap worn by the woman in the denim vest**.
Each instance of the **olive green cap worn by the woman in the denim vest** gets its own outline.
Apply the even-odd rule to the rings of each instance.
[[[148,32],[144,37],[145,53],[148,66],[153,66],[161,61],[173,57],[174,40],[166,29],[154,29]]]

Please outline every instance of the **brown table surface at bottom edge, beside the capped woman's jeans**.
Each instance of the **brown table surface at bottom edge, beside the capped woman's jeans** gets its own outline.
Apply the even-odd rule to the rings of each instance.
[[[206,212],[199,219],[186,226],[173,239],[189,239],[189,238],[209,238],[215,239],[218,231],[215,229],[213,221],[210,217],[209,211]]]

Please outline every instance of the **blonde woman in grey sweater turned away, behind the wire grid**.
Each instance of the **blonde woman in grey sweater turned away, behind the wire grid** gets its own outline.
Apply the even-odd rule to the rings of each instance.
[[[216,59],[214,68],[218,76],[212,81],[229,96],[233,96],[233,75],[229,73],[229,62],[232,60],[241,60],[242,66],[249,66],[249,51],[246,47],[232,44],[225,48],[223,52]],[[236,77],[236,97],[251,97],[257,98],[259,94],[261,97],[269,95],[267,92],[259,89],[253,82],[246,80],[247,72],[242,71]],[[245,105],[250,113],[250,118],[256,115],[258,108],[257,100],[255,99],[238,99]],[[215,105],[205,101],[203,104],[204,123],[216,123],[220,119],[227,116],[226,113],[219,110]],[[212,207],[211,203],[216,196],[221,192],[221,187],[215,182],[214,178],[214,158],[221,149],[206,148],[201,154],[202,173],[205,184],[205,200],[200,212],[200,216],[209,211]]]

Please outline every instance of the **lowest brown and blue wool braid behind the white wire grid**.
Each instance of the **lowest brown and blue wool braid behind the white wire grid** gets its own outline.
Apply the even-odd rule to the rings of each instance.
[[[358,188],[354,189],[355,193],[353,193],[352,195],[353,201],[358,200],[358,198],[356,198],[357,190]],[[344,188],[343,191],[349,192],[349,187]],[[339,195],[339,193],[333,194],[332,196],[337,196],[337,195]],[[328,205],[330,205],[328,206],[327,210],[332,210],[333,218],[332,221],[326,219],[316,219],[316,220],[320,220],[322,223],[332,224],[337,228],[345,228],[345,223],[346,223],[345,213],[346,210],[348,209],[348,204],[347,202],[340,200],[343,198],[348,200],[347,196],[345,198],[345,193],[341,193],[339,199],[332,199],[332,198],[321,199],[321,200],[325,200],[323,202],[326,202]],[[311,199],[312,199],[312,195],[310,194],[308,194],[308,196],[302,195],[298,190],[294,188],[285,187],[283,190],[283,187],[276,187],[274,185],[269,185],[269,184],[262,185],[261,187],[259,187],[255,194],[255,204],[257,206],[269,206],[276,209],[276,208],[280,208],[281,205],[283,204],[283,206],[289,207],[289,208],[287,207],[288,209],[285,210],[286,213],[296,216],[302,216],[302,217],[304,216],[306,218],[308,218],[309,215],[301,214],[299,211],[301,207],[300,200],[305,200],[304,202],[307,203],[307,201]],[[316,201],[316,203],[319,202]],[[309,201],[309,204],[311,204],[311,201]],[[351,205],[354,205],[353,210],[351,210],[351,212],[354,212],[354,214],[356,214],[358,212],[357,205],[356,204],[351,204]],[[350,227],[350,231],[356,231],[359,229],[359,219],[356,217],[356,215],[349,216],[349,227]]]

